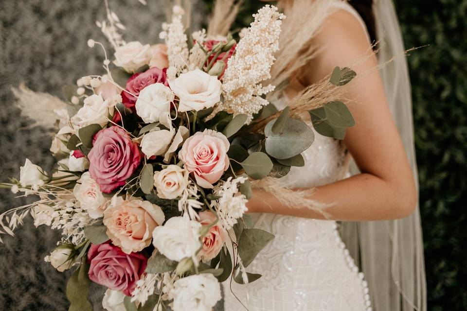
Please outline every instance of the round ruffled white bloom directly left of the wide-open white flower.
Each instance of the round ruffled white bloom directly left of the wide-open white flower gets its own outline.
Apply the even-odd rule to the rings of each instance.
[[[144,87],[136,100],[136,113],[144,122],[158,122],[161,114],[170,110],[170,103],[175,98],[170,88],[162,83],[155,83]]]

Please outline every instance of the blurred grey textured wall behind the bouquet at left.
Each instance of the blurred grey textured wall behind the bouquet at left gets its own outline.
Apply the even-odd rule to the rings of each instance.
[[[126,25],[127,41],[158,42],[165,1],[109,0]],[[202,5],[194,2],[193,24],[199,24]],[[196,14],[198,13],[198,14]],[[106,42],[96,20],[105,19],[102,0],[0,0],[0,180],[18,176],[28,157],[50,170],[51,138],[19,116],[11,86],[24,82],[31,89],[63,98],[61,87],[77,78],[103,73],[102,51],[87,40]],[[194,27],[197,28],[197,27]],[[108,47],[108,51],[109,47]],[[0,190],[0,210],[24,204],[8,190]],[[43,261],[59,239],[48,227],[34,228],[32,220],[18,228],[16,237],[2,236],[0,244],[0,310],[63,311],[68,309],[66,279]],[[95,310],[101,310],[104,291],[91,288]]]

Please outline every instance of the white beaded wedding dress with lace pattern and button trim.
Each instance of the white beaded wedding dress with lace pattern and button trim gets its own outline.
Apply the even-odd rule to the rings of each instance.
[[[339,3],[364,23],[347,3]],[[365,28],[366,31],[366,28]],[[340,141],[315,132],[315,141],[303,156],[305,167],[292,167],[283,177],[294,188],[337,181],[345,174],[345,149]],[[250,311],[371,311],[368,284],[341,241],[338,225],[276,214],[255,215],[255,227],[275,238],[247,268],[262,275],[239,285],[233,293]],[[223,284],[224,310],[245,308],[234,297],[230,279]]]

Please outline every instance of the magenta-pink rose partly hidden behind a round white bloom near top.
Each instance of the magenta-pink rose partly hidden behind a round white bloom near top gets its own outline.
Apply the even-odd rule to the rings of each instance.
[[[126,81],[126,90],[134,96],[128,94],[126,91],[122,91],[121,95],[123,104],[127,108],[133,109],[141,90],[151,84],[162,83],[164,86],[169,86],[165,71],[165,69],[154,67],[147,69],[144,72],[138,72],[132,75],[128,81]]]

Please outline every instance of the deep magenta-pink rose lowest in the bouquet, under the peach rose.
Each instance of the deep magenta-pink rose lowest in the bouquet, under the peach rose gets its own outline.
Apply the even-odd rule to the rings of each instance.
[[[147,259],[141,253],[125,254],[108,242],[94,245],[88,251],[89,278],[111,290],[121,291],[127,296],[136,287],[146,269]]]

